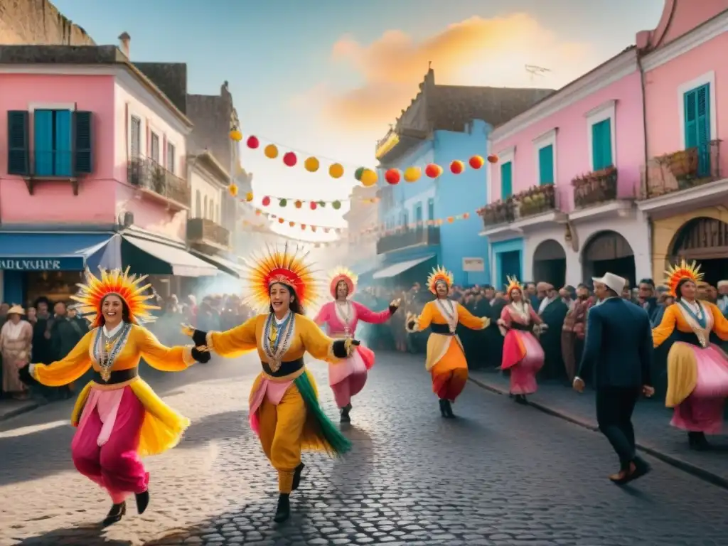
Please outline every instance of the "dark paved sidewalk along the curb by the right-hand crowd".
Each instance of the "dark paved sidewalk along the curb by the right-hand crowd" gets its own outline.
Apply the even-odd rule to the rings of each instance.
[[[485,389],[508,395],[508,378],[496,371],[470,371],[470,379]],[[591,430],[598,430],[594,391],[579,395],[560,382],[539,384],[538,392],[528,397],[530,405],[561,419]],[[700,478],[728,488],[728,436],[708,437],[711,451],[688,448],[685,432],[670,427],[672,410],[658,400],[641,400],[635,409],[633,423],[637,446],[642,451]],[[606,440],[604,448],[609,449]]]

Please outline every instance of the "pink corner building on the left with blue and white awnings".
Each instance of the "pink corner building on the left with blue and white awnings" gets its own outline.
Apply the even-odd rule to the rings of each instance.
[[[0,46],[3,301],[66,299],[84,267],[214,274],[184,242],[192,124],[114,46]]]

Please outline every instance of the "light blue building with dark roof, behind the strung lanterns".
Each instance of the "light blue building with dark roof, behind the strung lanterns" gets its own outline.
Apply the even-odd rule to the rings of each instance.
[[[467,160],[487,153],[493,127],[526,111],[547,90],[463,87],[435,84],[430,69],[410,106],[379,141],[379,222],[377,242],[382,259],[373,280],[408,288],[424,283],[436,264],[451,270],[458,285],[491,284],[488,241],[478,234],[482,222],[475,213],[488,202],[488,169],[474,170]],[[450,164],[465,162],[455,175]],[[432,180],[424,167],[436,163],[443,174]],[[422,178],[390,186],[384,173],[415,166]],[[448,222],[470,213],[470,218]]]

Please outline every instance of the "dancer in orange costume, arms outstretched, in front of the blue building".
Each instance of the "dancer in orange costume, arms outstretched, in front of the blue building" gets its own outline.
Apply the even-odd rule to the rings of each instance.
[[[422,331],[428,326],[432,333],[427,338],[427,360],[424,368],[432,373],[432,392],[440,399],[440,414],[452,419],[452,403],[467,382],[467,360],[460,338],[455,330],[460,323],[471,330],[483,330],[491,323],[487,317],[475,317],[456,301],[448,299],[453,284],[451,272],[443,267],[432,270],[427,277],[427,288],[437,296],[428,301],[419,317],[408,313],[405,328],[409,333]]]

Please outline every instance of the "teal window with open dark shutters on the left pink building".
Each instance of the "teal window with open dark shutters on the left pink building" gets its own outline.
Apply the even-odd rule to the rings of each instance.
[[[71,177],[91,173],[92,119],[87,111],[33,111],[31,168],[30,112],[8,111],[8,174]]]

